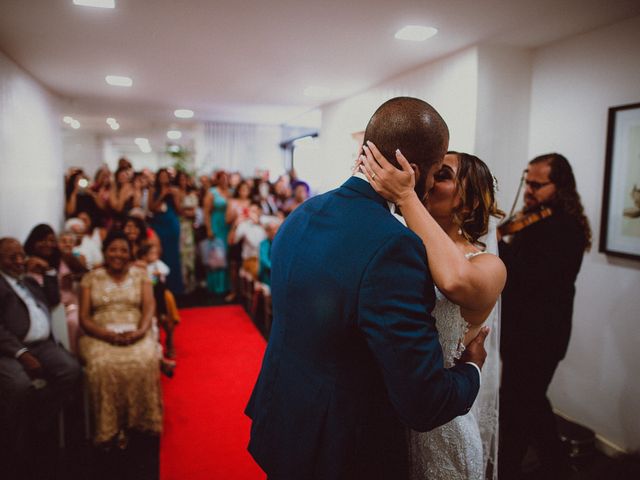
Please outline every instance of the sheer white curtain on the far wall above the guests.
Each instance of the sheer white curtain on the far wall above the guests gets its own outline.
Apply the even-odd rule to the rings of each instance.
[[[238,171],[243,176],[269,170],[273,178],[284,166],[281,136],[279,126],[205,122],[199,170]]]

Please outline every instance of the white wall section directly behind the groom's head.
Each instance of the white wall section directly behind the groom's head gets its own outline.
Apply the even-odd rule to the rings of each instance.
[[[365,129],[373,112],[397,96],[421,98],[449,125],[451,149],[473,151],[477,94],[477,50],[467,49],[391,78],[358,95],[322,108],[322,169],[307,179],[318,191],[341,185],[351,174],[358,144],[351,134]]]

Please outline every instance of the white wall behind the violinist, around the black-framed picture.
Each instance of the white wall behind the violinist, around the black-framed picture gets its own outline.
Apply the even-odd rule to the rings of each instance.
[[[640,102],[640,17],[535,53],[529,158],[573,165],[594,235],[578,277],[573,334],[551,387],[556,408],[640,449],[640,262],[598,251],[609,107]]]

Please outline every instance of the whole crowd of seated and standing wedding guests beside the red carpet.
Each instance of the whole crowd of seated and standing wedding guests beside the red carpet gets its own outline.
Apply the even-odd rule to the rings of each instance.
[[[242,275],[268,289],[271,241],[308,196],[294,174],[274,183],[224,171],[196,179],[137,172],[124,158],[93,179],[70,169],[62,228],[37,225],[24,243],[0,239],[0,420],[9,427],[0,451],[9,478],[46,478],[46,468],[30,472],[27,452],[43,431],[55,445],[56,414],[80,396],[83,375],[96,446],[125,448],[130,432],[157,436],[178,304],[192,294],[233,302]],[[52,331],[56,314],[66,318],[66,348]]]

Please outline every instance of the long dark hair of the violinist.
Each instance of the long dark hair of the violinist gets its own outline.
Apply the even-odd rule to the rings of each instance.
[[[539,163],[547,163],[551,166],[549,180],[556,187],[556,193],[552,200],[553,205],[551,206],[575,217],[584,233],[584,249],[589,251],[591,249],[591,227],[589,226],[589,219],[584,214],[584,207],[580,200],[580,194],[576,189],[576,179],[573,176],[573,169],[569,161],[559,153],[546,153],[531,160],[529,165]]]

